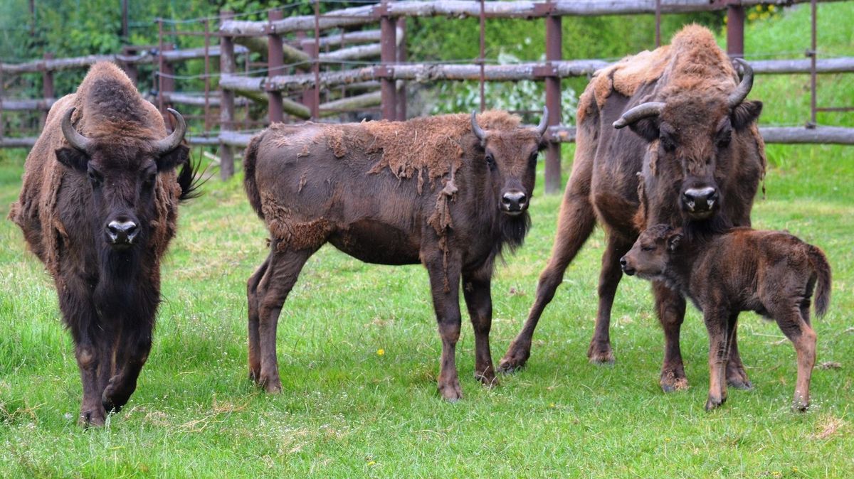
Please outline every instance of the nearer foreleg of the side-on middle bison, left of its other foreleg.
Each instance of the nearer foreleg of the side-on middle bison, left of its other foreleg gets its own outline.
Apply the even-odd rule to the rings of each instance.
[[[447,254],[447,258],[444,256]],[[457,401],[463,397],[459,387],[455,350],[459,340],[459,274],[460,258],[454,251],[424,255],[424,266],[430,274],[430,291],[433,296],[433,308],[436,309],[436,321],[439,323],[439,336],[442,338],[442,365],[439,369],[439,393],[447,401]]]

